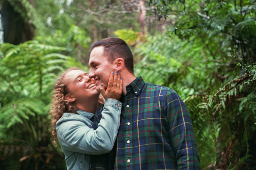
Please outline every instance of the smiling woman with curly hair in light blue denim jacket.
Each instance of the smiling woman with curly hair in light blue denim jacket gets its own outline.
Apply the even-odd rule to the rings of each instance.
[[[68,170],[89,169],[89,154],[103,154],[113,148],[119,128],[122,80],[111,73],[108,88],[101,84],[106,99],[98,129],[92,129],[95,111],[102,104],[95,80],[76,68],[66,70],[54,85],[52,100],[52,135],[58,138]],[[104,117],[104,119],[103,119]],[[57,133],[56,133],[57,132]]]

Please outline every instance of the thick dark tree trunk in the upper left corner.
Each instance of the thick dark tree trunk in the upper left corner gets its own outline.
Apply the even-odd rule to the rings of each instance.
[[[22,6],[19,1],[17,5]],[[2,0],[1,6],[4,42],[18,45],[33,40],[35,27],[30,21],[25,22],[20,13],[14,11],[13,6],[7,0]]]

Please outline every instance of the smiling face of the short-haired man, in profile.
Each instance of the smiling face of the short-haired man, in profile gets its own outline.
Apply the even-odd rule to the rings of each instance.
[[[96,81],[96,90],[100,92],[101,83],[104,84],[105,90],[108,86],[108,79],[111,72],[115,71],[115,65],[108,62],[107,56],[104,55],[104,47],[98,46],[92,49],[89,59],[91,67],[89,77]]]

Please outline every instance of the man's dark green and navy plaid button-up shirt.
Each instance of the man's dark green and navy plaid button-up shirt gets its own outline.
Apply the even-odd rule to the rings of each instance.
[[[120,127],[114,148],[92,155],[90,169],[176,170],[200,169],[195,134],[188,109],[179,95],[141,77],[122,95]],[[97,110],[97,129],[103,106]]]

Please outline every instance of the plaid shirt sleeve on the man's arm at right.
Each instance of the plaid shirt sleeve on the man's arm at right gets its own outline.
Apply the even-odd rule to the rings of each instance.
[[[177,169],[200,169],[196,138],[186,105],[172,89],[167,92],[164,105],[167,130],[176,157]]]

